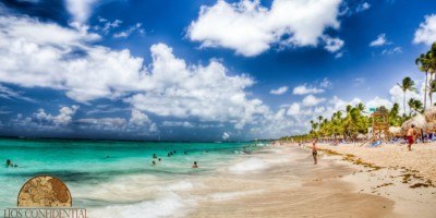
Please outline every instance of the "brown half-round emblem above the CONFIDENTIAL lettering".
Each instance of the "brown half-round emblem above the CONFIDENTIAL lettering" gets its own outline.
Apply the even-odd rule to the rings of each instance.
[[[71,207],[71,193],[59,179],[50,175],[34,177],[19,193],[19,207]]]

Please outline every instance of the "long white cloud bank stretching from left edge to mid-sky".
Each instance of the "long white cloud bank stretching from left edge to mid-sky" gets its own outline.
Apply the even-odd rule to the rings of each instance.
[[[157,44],[150,48],[152,63],[145,65],[126,49],[94,46],[99,36],[74,25],[1,16],[0,82],[62,90],[84,104],[122,99],[143,112],[230,122],[237,129],[270,112],[259,99],[247,97],[244,89],[253,78],[228,75],[217,60],[190,65],[174,57],[172,48]]]

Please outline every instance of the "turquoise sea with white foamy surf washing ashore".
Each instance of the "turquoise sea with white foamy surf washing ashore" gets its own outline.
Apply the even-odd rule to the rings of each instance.
[[[87,208],[89,217],[183,216],[197,204],[198,195],[190,193],[208,185],[202,178],[264,170],[268,162],[250,155],[263,149],[268,148],[253,143],[2,138],[0,209],[16,206],[27,180],[48,174],[68,185],[73,207]],[[173,150],[177,153],[167,157]],[[154,154],[162,160],[153,159]],[[4,167],[7,159],[19,167]],[[194,161],[199,168],[191,167]],[[257,191],[208,196],[221,201],[250,192]]]

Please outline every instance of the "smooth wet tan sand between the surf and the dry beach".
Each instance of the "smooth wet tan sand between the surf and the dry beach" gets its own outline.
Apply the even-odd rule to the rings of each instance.
[[[301,148],[278,149],[252,155],[271,161],[268,169],[203,179],[207,187],[191,195],[206,197],[186,217],[400,217],[393,201],[359,193],[359,184],[343,180],[356,169],[335,159],[314,166]]]

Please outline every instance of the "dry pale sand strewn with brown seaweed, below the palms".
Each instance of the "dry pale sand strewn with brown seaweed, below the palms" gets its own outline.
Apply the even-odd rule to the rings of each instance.
[[[281,146],[311,148],[308,144],[287,143]],[[332,159],[354,169],[342,180],[353,183],[355,192],[395,202],[393,215],[388,217],[436,216],[436,160],[429,157],[436,155],[436,143],[413,145],[412,152],[398,144],[382,147],[317,144],[317,147],[320,152],[318,165]]]

